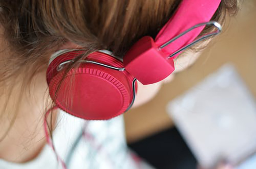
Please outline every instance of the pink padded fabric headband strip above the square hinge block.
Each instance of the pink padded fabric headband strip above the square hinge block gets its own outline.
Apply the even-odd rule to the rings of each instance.
[[[196,24],[209,22],[220,3],[221,0],[182,0],[176,13],[158,33],[155,43],[157,46],[161,46]],[[198,27],[176,39],[175,43],[170,43],[170,45],[164,47],[162,52],[170,55],[181,47],[188,45],[202,32],[204,27]],[[174,58],[176,57],[177,55]]]

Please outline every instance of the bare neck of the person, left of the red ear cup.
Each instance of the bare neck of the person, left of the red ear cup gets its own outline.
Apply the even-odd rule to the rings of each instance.
[[[3,110],[0,114],[0,158],[27,162],[44,147],[44,115],[51,101],[45,77],[45,72],[35,74],[27,89],[22,88],[21,79],[16,79],[12,91],[1,87],[5,90],[0,91],[0,110]],[[56,115],[53,113],[53,119]]]

